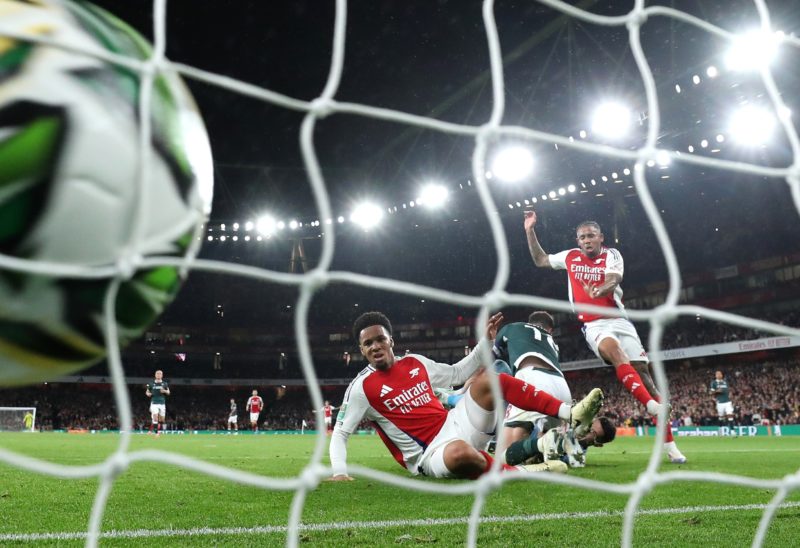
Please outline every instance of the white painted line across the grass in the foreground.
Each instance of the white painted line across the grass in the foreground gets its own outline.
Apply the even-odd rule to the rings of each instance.
[[[690,506],[688,508],[654,508],[639,510],[637,516],[659,516],[665,514],[693,514],[696,512],[728,512],[742,510],[763,510],[766,504],[739,504],[725,506]],[[781,508],[798,508],[800,502],[786,502]],[[595,512],[562,512],[559,514],[529,514],[523,516],[484,516],[481,523],[517,523],[526,521],[547,521],[558,519],[592,519],[601,517],[622,517],[622,510],[599,510]],[[398,519],[390,521],[344,521],[337,523],[306,523],[300,525],[301,531],[324,532],[342,529],[383,529],[386,527],[425,527],[432,525],[465,525],[468,517],[438,519]],[[262,533],[285,533],[286,525],[263,525],[259,527],[195,527],[192,529],[135,529],[133,531],[106,531],[101,538],[155,538],[155,537],[198,537],[211,535],[256,535]],[[75,533],[8,533],[0,535],[0,541],[24,542],[40,540],[74,540],[86,538],[85,532]]]

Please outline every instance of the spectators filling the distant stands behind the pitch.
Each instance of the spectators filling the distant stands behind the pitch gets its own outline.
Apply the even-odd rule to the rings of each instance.
[[[673,424],[715,425],[715,400],[709,394],[714,372],[721,370],[730,385],[738,425],[800,424],[800,364],[796,358],[733,365],[667,363],[667,377],[673,403]],[[567,373],[573,397],[580,398],[592,387],[606,394],[603,413],[619,425],[650,424],[649,417],[614,378],[609,368]],[[325,399],[333,405],[342,400],[345,386],[324,387]],[[203,387],[173,385],[167,401],[168,430],[223,430],[227,428],[230,398],[239,404],[240,428],[248,427],[244,402],[250,387]],[[289,387],[278,399],[271,387],[260,390],[265,410],[259,427],[265,430],[314,428],[315,414],[305,387]],[[148,399],[144,389],[130,387],[134,427],[148,427]],[[0,391],[0,406],[35,406],[37,429],[114,430],[118,428],[113,394],[108,385],[50,383]]]

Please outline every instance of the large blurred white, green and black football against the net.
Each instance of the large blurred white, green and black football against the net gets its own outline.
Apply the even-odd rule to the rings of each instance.
[[[0,0],[0,254],[113,267],[130,253],[196,253],[213,169],[202,119],[180,79],[155,77],[150,161],[140,178],[139,74],[20,35],[81,52],[151,55],[139,34],[91,4]],[[159,267],[123,280],[115,307],[120,343],[141,335],[181,278],[177,268]],[[0,263],[0,385],[54,379],[100,361],[110,283]]]

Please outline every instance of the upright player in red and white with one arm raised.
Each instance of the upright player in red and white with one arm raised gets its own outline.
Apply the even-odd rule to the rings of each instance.
[[[548,255],[542,249],[535,225],[536,213],[526,211],[524,227],[533,262],[538,267],[567,271],[569,300],[573,305],[593,304],[624,310],[620,287],[624,270],[622,255],[603,245],[600,225],[594,221],[581,223],[576,229],[578,247],[555,255]],[[661,404],[649,370],[650,360],[633,324],[627,318],[588,312],[578,313],[578,320],[583,322],[583,334],[589,348],[598,358],[614,366],[617,378],[650,415],[658,415]],[[686,457],[675,445],[669,423],[665,439],[664,448],[669,460],[678,464],[686,462]]]

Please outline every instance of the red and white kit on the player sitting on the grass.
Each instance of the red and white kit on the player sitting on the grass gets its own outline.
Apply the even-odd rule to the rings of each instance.
[[[458,405],[448,412],[433,393],[434,388],[464,384],[480,366],[481,347],[485,345],[485,342],[479,343],[469,356],[454,365],[408,354],[397,359],[386,371],[371,365],[364,368],[350,383],[339,407],[330,445],[334,475],[347,473],[347,438],[364,419],[374,423],[392,456],[412,474],[424,471],[425,467],[421,466],[424,459],[454,439],[468,438],[465,441],[474,444],[488,442],[491,436],[486,432],[494,428],[493,412],[481,410],[478,415],[485,414],[488,420],[480,424],[482,417],[466,417],[466,405]],[[477,407],[470,396],[464,399]],[[457,419],[459,408],[464,417]],[[472,413],[473,409],[469,411]],[[453,418],[449,418],[450,415]]]

